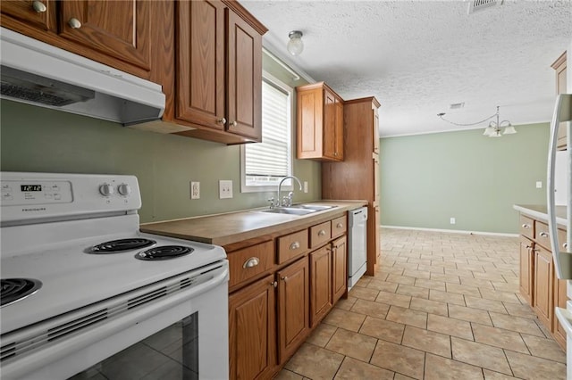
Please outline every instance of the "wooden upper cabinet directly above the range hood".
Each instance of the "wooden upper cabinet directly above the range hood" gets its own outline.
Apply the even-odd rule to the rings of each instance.
[[[151,2],[38,0],[2,1],[1,6],[5,28],[141,78],[150,77],[152,17],[159,17],[152,15]]]

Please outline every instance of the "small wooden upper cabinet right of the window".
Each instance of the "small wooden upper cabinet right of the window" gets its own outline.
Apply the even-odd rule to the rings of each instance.
[[[324,82],[296,87],[297,156],[343,161],[343,99]]]

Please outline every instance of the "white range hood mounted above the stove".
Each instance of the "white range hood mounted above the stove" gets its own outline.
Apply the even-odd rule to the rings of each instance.
[[[161,86],[0,28],[0,97],[130,126],[160,120]]]

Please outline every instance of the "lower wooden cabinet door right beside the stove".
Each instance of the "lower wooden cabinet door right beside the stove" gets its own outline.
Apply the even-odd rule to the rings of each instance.
[[[273,275],[229,296],[232,379],[268,378],[276,365]]]

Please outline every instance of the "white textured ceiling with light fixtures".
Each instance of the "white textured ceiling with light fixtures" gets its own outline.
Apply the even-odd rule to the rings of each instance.
[[[551,69],[572,45],[572,1],[505,1],[467,14],[466,1],[244,1],[264,45],[344,99],[374,95],[382,136],[464,128],[501,106],[512,124],[549,121]],[[286,51],[290,30],[304,52]],[[450,110],[451,103],[465,103]]]

